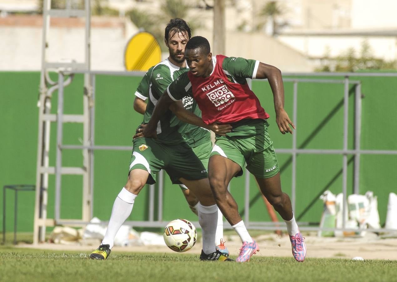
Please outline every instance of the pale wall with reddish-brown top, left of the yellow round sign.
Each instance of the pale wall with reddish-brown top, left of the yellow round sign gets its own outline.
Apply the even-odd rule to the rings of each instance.
[[[91,68],[123,70],[124,48],[137,32],[120,18],[93,18]],[[0,18],[0,70],[40,70],[42,18],[9,16]],[[48,61],[84,60],[85,29],[81,19],[52,19],[48,35]]]

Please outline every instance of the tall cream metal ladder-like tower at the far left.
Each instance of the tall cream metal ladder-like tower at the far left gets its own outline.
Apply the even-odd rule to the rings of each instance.
[[[50,29],[50,18],[85,18],[85,59],[84,62],[76,62],[71,59],[69,62],[50,62],[47,57],[48,34]],[[43,29],[42,29],[42,58],[40,74],[40,96],[38,101],[39,107],[39,134],[37,144],[37,171],[36,171],[36,197],[35,197],[35,214],[33,225],[33,243],[44,241],[46,226],[54,226],[56,220],[47,219],[47,202],[48,202],[48,175],[56,175],[56,187],[60,186],[61,174],[83,175],[83,220],[90,220],[92,217],[92,175],[91,164],[93,159],[89,158],[90,149],[83,150],[83,167],[62,167],[62,151],[59,146],[56,150],[56,167],[49,166],[50,154],[50,124],[55,122],[62,123],[82,123],[84,128],[83,144],[91,145],[91,134],[93,129],[91,121],[93,118],[93,109],[91,92],[91,59],[90,59],[90,34],[91,34],[91,2],[84,0],[84,9],[75,9],[72,7],[71,0],[66,0],[65,9],[52,9],[51,0],[43,1]],[[64,87],[69,85],[73,79],[73,72],[83,70],[84,73],[84,95],[83,95],[83,115],[64,115],[60,111],[58,102],[57,115],[51,114],[52,93],[58,90],[58,96],[63,95]],[[67,80],[58,78],[52,81],[49,71],[56,71],[62,74],[68,74]],[[83,92],[82,91],[82,92]],[[62,126],[57,128],[57,136]],[[59,203],[59,198],[55,199]],[[56,210],[55,218],[59,217],[59,210]]]

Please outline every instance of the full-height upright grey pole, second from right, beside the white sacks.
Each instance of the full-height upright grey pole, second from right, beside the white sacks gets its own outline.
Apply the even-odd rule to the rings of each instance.
[[[344,94],[344,108],[343,108],[343,150],[347,150],[347,130],[349,124],[349,77],[345,77],[345,94]],[[343,219],[342,228],[346,227],[347,218],[347,154],[343,154]]]

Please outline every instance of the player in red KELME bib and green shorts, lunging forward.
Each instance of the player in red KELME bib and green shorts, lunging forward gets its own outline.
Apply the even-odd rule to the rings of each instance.
[[[306,256],[306,245],[293,215],[289,196],[281,191],[278,161],[273,142],[268,135],[269,115],[261,107],[256,95],[249,89],[247,78],[268,79],[274,95],[276,123],[282,134],[293,133],[295,128],[284,110],[284,87],[278,68],[257,60],[226,57],[210,53],[210,45],[204,37],[190,39],[185,47],[189,72],[181,74],[162,95],[147,124],[145,136],[156,136],[156,124],[161,115],[183,97],[190,95],[202,111],[202,119],[178,108],[179,119],[206,126],[207,124],[231,124],[226,136],[216,136],[216,142],[208,163],[208,177],[216,202],[233,229],[243,241],[236,261],[248,261],[259,250],[249,235],[238,212],[237,203],[227,191],[233,177],[243,174],[243,167],[255,176],[260,190],[287,224],[292,253],[297,261]]]

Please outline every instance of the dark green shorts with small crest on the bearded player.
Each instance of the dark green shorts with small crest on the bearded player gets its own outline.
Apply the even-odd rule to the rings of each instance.
[[[187,180],[208,177],[207,169],[185,142],[163,144],[152,138],[139,137],[135,138],[133,143],[129,171],[146,170],[149,173],[147,184],[156,183],[156,173],[161,169],[168,173],[171,181],[178,181],[181,177]]]

